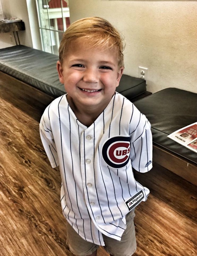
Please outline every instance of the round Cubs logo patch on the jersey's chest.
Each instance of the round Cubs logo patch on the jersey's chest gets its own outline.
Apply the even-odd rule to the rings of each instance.
[[[122,168],[130,159],[130,138],[116,136],[108,139],[102,148],[102,156],[112,168]]]

